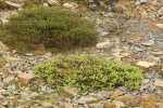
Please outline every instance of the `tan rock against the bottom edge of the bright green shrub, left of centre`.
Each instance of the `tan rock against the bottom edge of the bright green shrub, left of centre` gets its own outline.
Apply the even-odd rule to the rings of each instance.
[[[67,95],[67,96],[75,96],[77,95],[78,91],[76,87],[70,87],[70,86],[64,86],[63,92]]]

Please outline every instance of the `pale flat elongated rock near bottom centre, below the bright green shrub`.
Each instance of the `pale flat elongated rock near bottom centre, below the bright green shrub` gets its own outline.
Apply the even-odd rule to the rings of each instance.
[[[82,96],[77,102],[83,102],[83,104],[90,104],[90,103],[98,102],[98,99],[95,98],[95,97],[84,97],[84,96]],[[82,104],[82,103],[78,103],[78,104]]]

